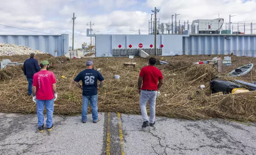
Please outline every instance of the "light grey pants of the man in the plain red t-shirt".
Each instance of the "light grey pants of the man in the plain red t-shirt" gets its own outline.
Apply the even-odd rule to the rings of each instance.
[[[157,98],[157,91],[141,91],[140,93],[140,110],[142,112],[143,121],[148,121],[147,116],[147,101],[149,102],[149,110],[150,110],[150,122],[155,122],[155,100]]]

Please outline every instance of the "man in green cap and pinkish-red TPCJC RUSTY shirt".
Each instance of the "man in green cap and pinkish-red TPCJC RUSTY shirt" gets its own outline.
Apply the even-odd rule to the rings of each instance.
[[[40,62],[41,71],[33,76],[33,101],[37,103],[37,119],[39,132],[44,131],[43,111],[47,110],[47,131],[54,128],[52,123],[53,101],[57,98],[56,79],[53,72],[49,70],[49,62],[43,60]]]

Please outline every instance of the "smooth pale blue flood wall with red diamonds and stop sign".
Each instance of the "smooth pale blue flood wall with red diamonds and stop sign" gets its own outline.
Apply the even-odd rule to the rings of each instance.
[[[182,55],[182,37],[184,36],[188,35],[157,35],[157,51],[163,56]],[[96,57],[128,56],[132,53],[140,53],[140,49],[153,53],[154,40],[154,35],[95,35]],[[122,54],[118,55],[115,51]]]

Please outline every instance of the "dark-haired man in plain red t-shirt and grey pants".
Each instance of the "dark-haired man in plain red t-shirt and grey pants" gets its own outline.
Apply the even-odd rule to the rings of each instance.
[[[143,67],[140,71],[138,79],[138,91],[140,93],[140,110],[142,112],[142,127],[153,127],[155,125],[155,100],[157,98],[157,90],[163,85],[162,72],[155,67],[156,59],[149,58],[148,66]],[[142,83],[143,81],[143,83]],[[157,82],[159,83],[157,84]],[[142,85],[142,88],[141,88]],[[146,105],[149,102],[150,124],[148,122]]]

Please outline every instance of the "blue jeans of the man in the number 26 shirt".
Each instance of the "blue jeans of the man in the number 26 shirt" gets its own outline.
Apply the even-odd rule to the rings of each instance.
[[[91,114],[93,116],[93,121],[98,121],[98,95],[93,96],[83,96],[83,106],[82,106],[82,121],[87,120],[87,110],[89,102],[91,104]]]

